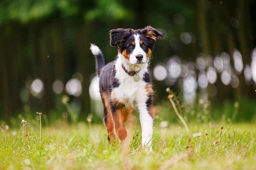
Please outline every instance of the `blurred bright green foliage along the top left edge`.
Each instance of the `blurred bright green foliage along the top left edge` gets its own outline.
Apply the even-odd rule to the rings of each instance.
[[[91,6],[95,3],[95,8]],[[88,10],[90,8],[90,10]],[[2,0],[0,2],[0,22],[18,21],[30,23],[60,14],[63,18],[84,14],[86,20],[121,20],[128,11],[116,0]]]

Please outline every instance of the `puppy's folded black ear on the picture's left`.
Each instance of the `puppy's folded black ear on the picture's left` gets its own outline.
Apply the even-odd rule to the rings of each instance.
[[[124,41],[131,33],[132,29],[112,29],[110,30],[110,45],[117,46]]]

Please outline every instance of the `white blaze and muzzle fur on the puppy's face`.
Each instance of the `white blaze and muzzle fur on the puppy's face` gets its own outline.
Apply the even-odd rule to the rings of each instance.
[[[146,57],[146,53],[145,51],[143,51],[143,49],[140,47],[140,35],[135,34],[134,35],[134,42],[135,42],[135,48],[132,51],[132,53],[130,54],[130,63],[132,64],[136,64],[138,59],[136,59],[136,55],[143,55],[143,59],[141,61],[141,63],[146,63],[147,62],[147,57]]]

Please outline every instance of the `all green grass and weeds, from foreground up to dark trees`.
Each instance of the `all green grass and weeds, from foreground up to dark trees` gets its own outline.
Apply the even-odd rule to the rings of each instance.
[[[171,104],[163,102],[155,108],[160,114],[154,121],[150,154],[141,147],[138,116],[130,116],[125,124],[126,141],[110,145],[106,128],[95,123],[98,118],[89,114],[86,123],[78,122],[64,96],[69,115],[63,112],[62,121],[49,118],[49,125],[42,113],[12,117],[10,126],[0,121],[0,169],[256,169],[254,101],[226,102],[222,109],[210,110],[213,106],[203,102],[181,106],[177,96],[170,89],[167,92]],[[243,115],[250,122],[241,123]]]

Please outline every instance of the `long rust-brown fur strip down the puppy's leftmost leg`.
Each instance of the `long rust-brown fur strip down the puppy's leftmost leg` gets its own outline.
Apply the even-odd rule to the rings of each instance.
[[[106,115],[107,122],[104,122],[104,123],[105,123],[106,128],[108,129],[108,137],[110,139],[110,142],[112,142],[115,140],[116,135],[114,133],[114,131],[115,131],[114,121],[113,121],[112,112],[110,109],[109,96],[108,96],[107,92],[102,93],[102,98],[104,100],[104,106],[106,107],[106,110],[107,110],[107,115]]]

